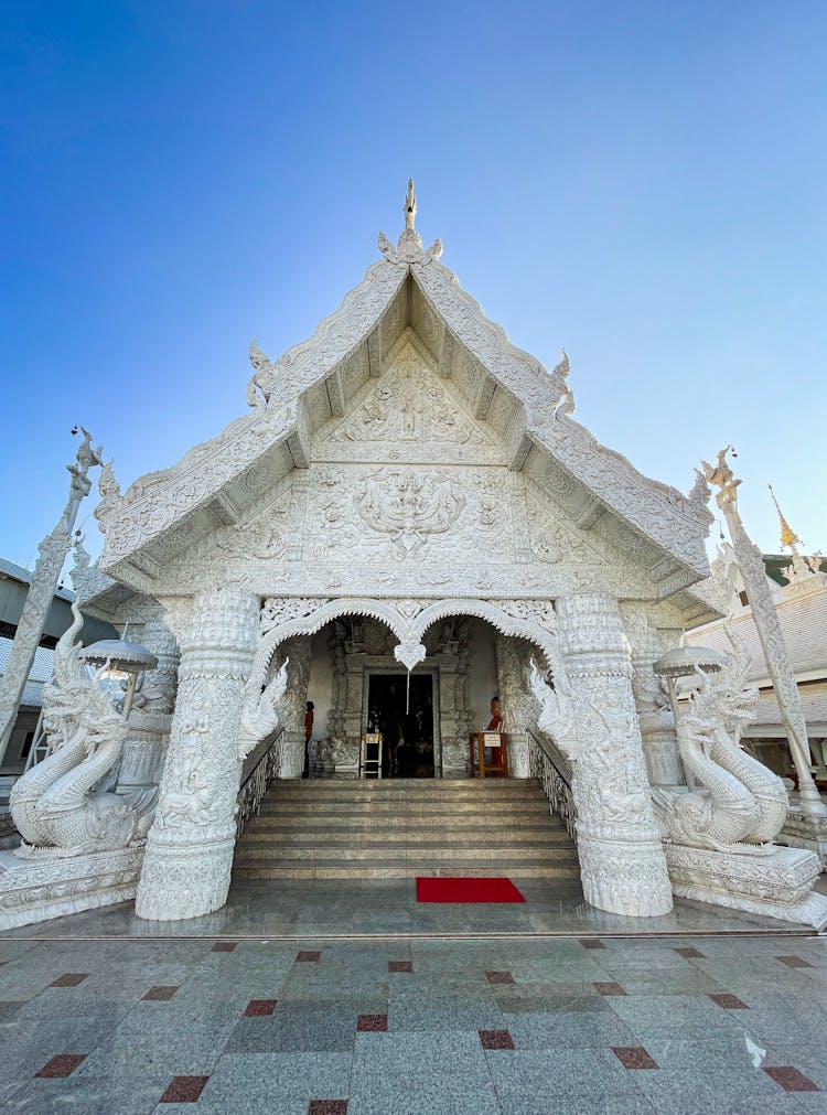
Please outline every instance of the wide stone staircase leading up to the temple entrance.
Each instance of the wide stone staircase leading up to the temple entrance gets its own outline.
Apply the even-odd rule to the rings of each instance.
[[[235,879],[577,879],[576,849],[534,779],[276,782],[235,850]]]

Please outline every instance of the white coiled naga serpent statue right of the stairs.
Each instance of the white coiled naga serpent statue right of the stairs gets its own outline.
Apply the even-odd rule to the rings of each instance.
[[[664,840],[757,852],[785,822],[788,803],[781,779],[740,747],[758,699],[756,690],[742,688],[748,665],[746,652],[736,648],[717,678],[698,671],[701,686],[692,692],[689,710],[678,717],[677,730],[683,763],[704,789],[652,791]]]

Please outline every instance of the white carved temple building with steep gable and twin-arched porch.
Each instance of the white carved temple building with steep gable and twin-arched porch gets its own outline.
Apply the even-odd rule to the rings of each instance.
[[[253,342],[247,414],[123,494],[104,469],[100,569],[76,586],[158,666],[114,787],[100,763],[78,780],[91,760],[67,748],[94,718],[64,709],[62,746],[18,795],[30,827],[0,865],[3,924],[134,894],[148,919],[218,909],[245,760],[275,739],[276,775],[299,777],[310,698],[328,765],[356,776],[392,679],[416,690],[434,777],[467,775],[495,694],[510,776],[566,767],[552,806],[570,793],[593,905],[656,918],[674,892],[827,920],[817,857],[772,844],[780,782],[741,764],[738,663],[706,663],[678,728],[653,668],[721,615],[704,478],[683,495],[600,445],[572,417],[565,353],[549,372],[510,345],[415,212],[409,190],[398,244],[380,234],[309,341],[278,360]],[[663,677],[704,665],[667,658]],[[118,835],[99,823],[125,809]]]

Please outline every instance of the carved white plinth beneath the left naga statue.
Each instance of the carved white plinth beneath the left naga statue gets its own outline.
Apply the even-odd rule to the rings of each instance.
[[[53,853],[53,854],[52,854]],[[0,930],[135,898],[143,845],[84,855],[0,852]]]

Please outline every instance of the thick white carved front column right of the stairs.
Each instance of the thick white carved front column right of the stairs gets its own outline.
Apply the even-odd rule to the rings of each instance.
[[[583,593],[561,598],[556,609],[580,737],[572,792],[583,893],[611,913],[668,913],[672,889],[652,812],[617,602]]]

